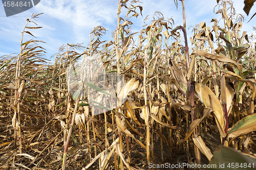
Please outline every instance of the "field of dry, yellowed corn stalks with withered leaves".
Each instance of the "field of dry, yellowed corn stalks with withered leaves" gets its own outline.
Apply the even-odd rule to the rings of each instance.
[[[217,1],[221,20],[187,38],[182,0],[183,26],[156,12],[135,33],[138,2],[119,1],[109,42],[97,26],[87,47],[63,45],[52,64],[44,42],[23,40],[44,29],[40,14],[25,21],[19,55],[0,58],[0,169],[255,168],[256,46],[244,17]]]

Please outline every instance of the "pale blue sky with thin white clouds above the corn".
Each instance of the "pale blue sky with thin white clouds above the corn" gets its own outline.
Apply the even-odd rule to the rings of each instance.
[[[159,11],[165,18],[173,18],[176,26],[183,25],[182,20],[182,4],[178,1],[178,10],[176,9],[174,1],[170,0],[142,0],[142,4],[138,4],[143,7],[142,15],[139,15],[137,19],[133,19],[132,32],[139,32],[143,25],[143,19],[149,15],[146,21],[147,24],[151,23],[154,12]],[[247,31],[248,36],[251,33],[253,23],[255,23],[256,17],[250,22],[246,23],[250,17],[256,12],[256,5],[254,5],[250,11],[249,16],[243,11],[243,0],[234,1],[234,8],[237,13],[245,16],[245,22],[241,31]],[[130,2],[127,3],[128,5]],[[38,45],[46,49],[46,58],[50,57],[58,52],[58,48],[61,45],[67,43],[76,44],[83,43],[83,46],[87,46],[89,43],[89,34],[96,26],[103,26],[108,32],[101,40],[109,41],[111,39],[111,32],[116,29],[117,25],[117,5],[118,1],[112,0],[77,0],[77,1],[54,1],[54,0],[41,0],[40,3],[25,12],[6,17],[4,7],[0,5],[0,57],[3,55],[9,55],[12,53],[19,53],[21,33],[26,25],[26,19],[30,18],[32,13],[44,13],[37,18],[38,27],[43,27],[37,30],[28,30],[36,37],[36,40],[42,40],[46,43],[39,43]],[[187,28],[190,26],[195,27],[200,22],[205,21],[206,26],[211,27],[210,23],[212,18],[221,18],[221,14],[214,13],[214,7],[217,5],[215,0],[185,0],[185,15]],[[122,8],[123,13],[121,16],[125,17],[126,9]],[[218,9],[216,9],[218,11]],[[139,14],[140,12],[137,11]],[[223,27],[223,21],[219,23]],[[34,24],[28,25],[34,27]],[[188,39],[192,36],[192,28],[187,30]],[[135,36],[136,39],[137,36]],[[32,39],[33,37],[26,34],[24,42]],[[190,42],[189,42],[190,44]],[[189,45],[190,46],[190,45]],[[54,60],[52,58],[51,60]]]

